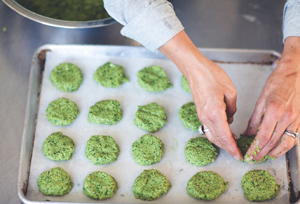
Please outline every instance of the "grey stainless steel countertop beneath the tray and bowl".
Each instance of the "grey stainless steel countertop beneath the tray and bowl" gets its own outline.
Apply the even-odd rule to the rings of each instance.
[[[173,0],[175,11],[201,48],[282,51],[285,0]],[[6,28],[4,32],[2,29]],[[17,175],[29,71],[44,44],[139,45],[120,35],[120,24],[62,29],[28,20],[0,2],[0,203],[20,203]]]

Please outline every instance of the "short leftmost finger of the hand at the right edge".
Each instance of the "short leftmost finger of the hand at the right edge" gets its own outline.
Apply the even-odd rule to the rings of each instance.
[[[248,122],[248,126],[246,131],[244,132],[245,133],[244,135],[251,136],[258,131],[259,126],[263,119],[263,115],[264,115],[264,107],[261,105],[256,105],[254,112]]]

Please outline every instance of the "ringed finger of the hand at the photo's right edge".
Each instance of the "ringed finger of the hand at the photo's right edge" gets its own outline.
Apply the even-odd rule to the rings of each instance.
[[[290,128],[290,127],[289,127]],[[289,129],[288,130],[292,130],[292,131],[296,131],[297,128],[294,129]],[[299,128],[299,125],[298,125]],[[290,149],[292,149],[293,146],[295,146],[298,142],[298,137],[297,138],[293,138],[292,136],[289,136],[287,134],[283,134],[283,136],[281,137],[281,141],[278,144],[277,147],[275,147],[268,155],[273,157],[273,158],[279,158],[282,155],[284,155],[287,151],[289,151]]]

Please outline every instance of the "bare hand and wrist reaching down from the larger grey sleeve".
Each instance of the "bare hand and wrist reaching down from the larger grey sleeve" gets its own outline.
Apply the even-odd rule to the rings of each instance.
[[[208,60],[184,31],[159,50],[175,63],[188,80],[198,117],[209,129],[207,138],[237,160],[243,160],[229,127],[236,112],[236,89],[225,71]]]

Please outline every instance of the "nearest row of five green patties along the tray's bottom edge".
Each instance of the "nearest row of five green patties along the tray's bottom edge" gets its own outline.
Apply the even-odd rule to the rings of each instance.
[[[63,196],[69,193],[74,184],[70,175],[61,167],[56,167],[40,174],[37,181],[40,191],[45,195]],[[199,200],[213,200],[221,196],[229,183],[213,171],[201,171],[189,179],[187,194]],[[241,181],[244,197],[249,201],[267,201],[275,198],[280,185],[268,171],[252,170]],[[132,192],[137,199],[153,201],[164,196],[172,184],[159,170],[144,170],[134,181]],[[95,171],[84,179],[83,193],[96,200],[114,196],[118,190],[117,181],[109,174]]]

